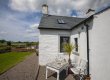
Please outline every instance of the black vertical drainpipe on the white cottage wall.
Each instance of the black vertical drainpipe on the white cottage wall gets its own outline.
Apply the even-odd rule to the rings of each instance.
[[[84,23],[84,25],[86,26],[86,38],[87,38],[87,76],[89,77],[89,25]]]

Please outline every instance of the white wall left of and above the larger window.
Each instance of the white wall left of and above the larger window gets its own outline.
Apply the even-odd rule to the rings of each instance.
[[[70,36],[69,31],[40,30],[39,36],[39,64],[45,65],[55,60],[60,53],[60,36]]]

